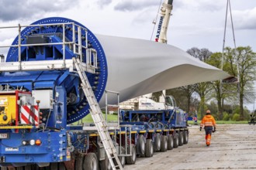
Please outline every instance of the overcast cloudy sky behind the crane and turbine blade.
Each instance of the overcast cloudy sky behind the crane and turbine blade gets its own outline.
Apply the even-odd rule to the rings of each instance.
[[[162,0],[163,2],[164,0]],[[161,0],[0,0],[0,26],[30,24],[60,16],[74,19],[96,34],[150,40]],[[256,1],[230,0],[237,46],[256,52]],[[168,44],[221,52],[226,0],[174,0],[168,27]],[[230,15],[227,46],[234,47]],[[159,18],[159,17],[158,17]],[[153,35],[156,35],[156,29]],[[0,30],[0,45],[11,44],[17,31]],[[153,36],[153,39],[154,39]],[[5,53],[7,49],[0,49]]]

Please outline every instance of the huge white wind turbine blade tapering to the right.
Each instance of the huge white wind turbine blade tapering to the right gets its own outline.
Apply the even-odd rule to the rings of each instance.
[[[120,102],[143,94],[229,76],[175,46],[142,39],[97,36],[108,63],[106,90]],[[111,99],[108,100],[112,104]],[[104,106],[103,96],[100,105]]]

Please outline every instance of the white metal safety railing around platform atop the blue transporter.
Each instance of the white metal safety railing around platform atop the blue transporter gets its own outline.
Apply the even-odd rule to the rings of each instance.
[[[65,27],[66,26],[70,26],[71,25],[71,36],[72,39],[70,41],[66,40],[65,37]],[[22,44],[22,28],[24,27],[35,27],[40,29],[40,27],[42,26],[61,26],[63,29],[62,32],[62,37],[61,40],[62,42],[40,42],[40,43],[30,43],[30,44]],[[66,69],[66,56],[65,56],[65,50],[66,50],[66,46],[73,46],[73,53],[75,55],[77,55],[81,62],[84,62],[86,64],[87,67],[87,72],[90,73],[95,73],[95,69],[97,69],[98,65],[97,65],[97,51],[95,49],[92,48],[88,48],[88,30],[83,27],[83,26],[79,26],[78,24],[74,23],[74,22],[60,22],[60,23],[47,23],[47,24],[36,24],[36,25],[28,25],[28,26],[22,26],[22,25],[18,25],[18,26],[5,26],[5,27],[0,27],[0,29],[18,29],[18,40],[17,40],[17,44],[13,44],[13,45],[2,45],[0,46],[0,48],[8,48],[8,47],[17,47],[18,48],[18,59],[17,62],[18,63],[18,67],[19,69],[17,70],[6,70],[6,71],[19,71],[22,70],[22,63],[26,63],[27,61],[22,61],[22,57],[21,57],[21,48],[22,47],[29,47],[29,46],[57,46],[57,45],[62,45],[62,51],[63,51],[63,58],[62,58],[62,67],[60,68],[59,66],[57,67],[57,69]],[[76,33],[76,29],[77,29],[77,33]],[[82,36],[81,31],[85,32],[85,37]],[[33,34],[32,34],[33,35]],[[78,42],[76,42],[76,39],[78,39]],[[83,41],[85,42],[85,46],[83,46]],[[78,49],[78,52],[77,52]],[[85,53],[86,53],[86,61],[83,61],[83,55],[82,55],[82,50],[85,49]],[[52,61],[52,60],[50,60]],[[61,61],[61,59],[59,59],[59,61]],[[58,63],[60,63],[58,61]],[[38,61],[36,61],[38,62]],[[4,63],[1,59],[0,63]],[[17,64],[16,64],[17,65]],[[23,69],[24,70],[24,69]],[[2,70],[4,71],[4,70]]]

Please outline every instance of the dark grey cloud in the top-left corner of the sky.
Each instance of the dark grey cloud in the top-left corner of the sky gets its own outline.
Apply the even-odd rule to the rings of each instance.
[[[60,12],[78,5],[78,0],[0,0],[0,20],[13,21],[43,16],[46,12]]]

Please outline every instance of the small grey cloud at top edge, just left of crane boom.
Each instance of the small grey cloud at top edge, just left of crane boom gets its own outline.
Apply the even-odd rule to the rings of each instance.
[[[159,5],[160,0],[125,0],[122,2],[119,2],[115,6],[115,10],[117,11],[125,11],[125,12],[132,12],[132,11],[138,11],[140,9],[144,9],[150,6],[156,6]]]

